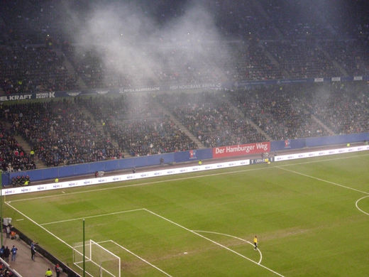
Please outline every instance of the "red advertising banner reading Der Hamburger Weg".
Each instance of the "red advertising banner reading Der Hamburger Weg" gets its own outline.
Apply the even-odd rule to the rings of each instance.
[[[213,158],[243,156],[270,152],[270,141],[213,148]]]

